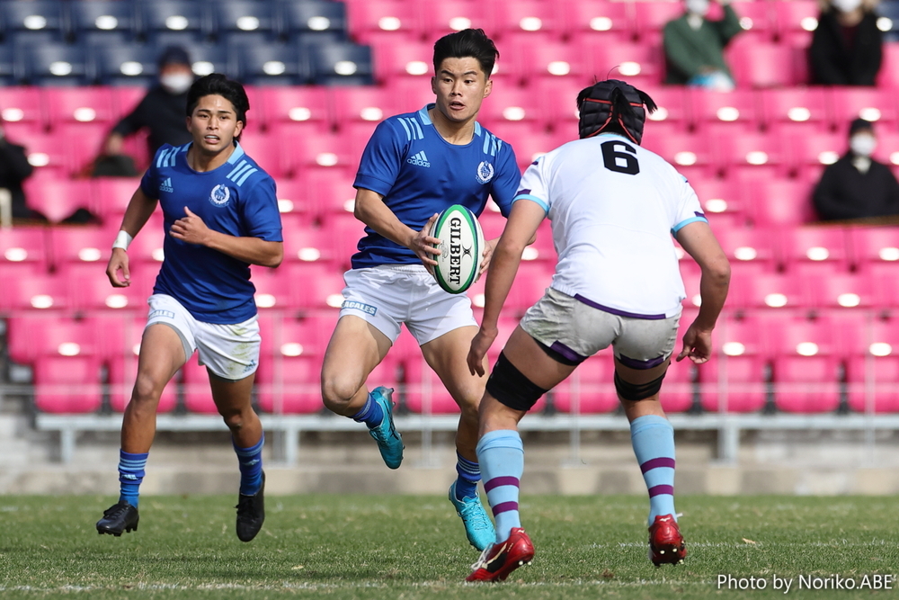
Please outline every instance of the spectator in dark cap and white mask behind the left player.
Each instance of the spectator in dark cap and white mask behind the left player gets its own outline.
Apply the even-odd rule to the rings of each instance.
[[[191,58],[187,50],[178,46],[166,48],[159,57],[159,83],[154,85],[131,113],[112,129],[104,144],[107,157],[121,155],[124,139],[147,129],[149,156],[163,144],[182,146],[191,141],[184,125],[187,91],[193,84]]]

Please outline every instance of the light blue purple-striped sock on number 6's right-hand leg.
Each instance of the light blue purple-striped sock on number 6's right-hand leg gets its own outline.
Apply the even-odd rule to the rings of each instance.
[[[649,524],[674,512],[674,427],[663,416],[638,416],[630,424],[630,441],[649,489]]]

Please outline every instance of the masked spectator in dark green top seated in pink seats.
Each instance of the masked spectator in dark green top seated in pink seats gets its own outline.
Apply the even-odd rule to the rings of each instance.
[[[734,89],[724,49],[743,29],[730,0],[718,3],[725,12],[720,21],[706,18],[709,0],[684,0],[683,15],[665,24],[665,83],[698,85],[719,92]]]

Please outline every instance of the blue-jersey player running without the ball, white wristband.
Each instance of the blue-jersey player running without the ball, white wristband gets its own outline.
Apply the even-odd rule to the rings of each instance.
[[[244,88],[223,75],[192,85],[187,129],[193,141],[156,152],[112,246],[106,274],[114,287],[128,286],[128,245],[156,204],[162,206],[165,261],[148,300],[138,377],[122,420],[121,494],[97,523],[99,533],[137,531],[156,406],[194,351],[237,453],[237,537],[249,542],[263,526],[263,427],[250,406],[260,342],[250,264],[278,266],[283,247],[275,184],[236,141],[249,108]]]

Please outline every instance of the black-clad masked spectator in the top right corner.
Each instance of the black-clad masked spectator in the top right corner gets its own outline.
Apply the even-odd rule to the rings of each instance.
[[[821,14],[808,50],[812,83],[874,85],[883,58],[876,0],[819,0]]]

